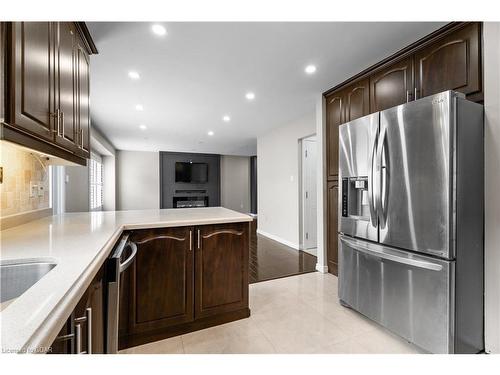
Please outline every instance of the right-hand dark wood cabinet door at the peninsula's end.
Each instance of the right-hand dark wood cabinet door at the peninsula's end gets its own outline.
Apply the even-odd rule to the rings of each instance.
[[[196,319],[248,308],[249,224],[195,229]]]

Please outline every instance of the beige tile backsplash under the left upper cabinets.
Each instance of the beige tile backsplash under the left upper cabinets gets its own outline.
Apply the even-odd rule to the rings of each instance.
[[[0,142],[0,157],[0,217],[49,208],[49,167],[45,169],[29,150],[8,142]],[[30,197],[30,185],[43,186],[40,196],[35,191]]]

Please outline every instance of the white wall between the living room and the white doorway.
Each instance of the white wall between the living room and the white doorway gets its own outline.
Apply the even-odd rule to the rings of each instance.
[[[300,243],[299,139],[314,133],[316,117],[311,111],[257,139],[257,230],[296,249]]]

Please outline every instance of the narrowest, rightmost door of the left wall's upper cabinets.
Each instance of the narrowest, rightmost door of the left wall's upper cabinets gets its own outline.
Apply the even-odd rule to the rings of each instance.
[[[76,50],[77,64],[77,143],[81,156],[90,156],[90,74],[89,56],[79,44]]]

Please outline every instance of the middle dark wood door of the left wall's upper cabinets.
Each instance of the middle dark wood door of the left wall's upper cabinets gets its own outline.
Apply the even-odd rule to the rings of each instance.
[[[77,151],[76,126],[76,29],[72,22],[59,22],[57,27],[57,90],[59,124],[56,142],[70,151]]]

